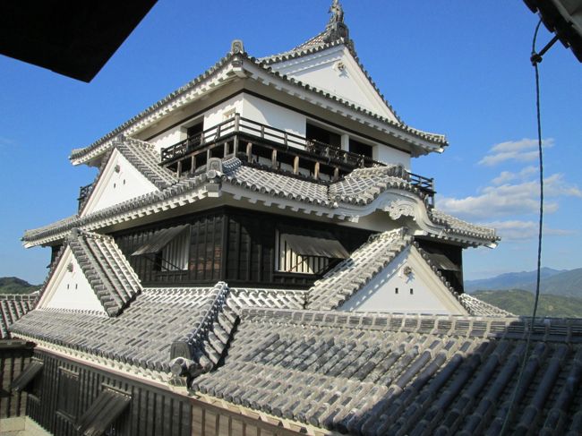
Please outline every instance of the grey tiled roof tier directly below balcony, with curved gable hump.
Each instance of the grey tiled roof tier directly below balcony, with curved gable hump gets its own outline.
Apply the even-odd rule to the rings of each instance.
[[[250,167],[239,158],[229,158],[223,162],[223,173],[209,177],[207,173],[187,177],[159,192],[151,192],[133,200],[101,209],[84,217],[66,218],[46,227],[27,230],[22,237],[25,243],[33,244],[45,237],[62,234],[73,227],[85,227],[100,220],[106,220],[135,209],[147,207],[159,201],[175,199],[186,192],[193,192],[203,185],[219,186],[220,182],[240,186],[251,192],[266,193],[273,197],[313,204],[327,209],[337,209],[341,203],[364,207],[382,192],[403,190],[412,192],[427,205],[427,197],[414,184],[399,176],[399,166],[358,168],[344,179],[330,184],[319,184],[301,180],[288,175],[275,173],[267,169]],[[447,235],[461,241],[464,238],[482,240],[491,244],[499,240],[491,228],[475,226],[457,218],[450,217],[433,208],[427,209],[429,218],[441,226],[440,236]]]

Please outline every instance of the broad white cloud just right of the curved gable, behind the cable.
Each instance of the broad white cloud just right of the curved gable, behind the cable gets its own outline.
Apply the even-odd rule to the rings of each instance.
[[[582,191],[576,185],[567,184],[564,176],[554,174],[544,179],[545,200],[543,209],[546,213],[558,209],[559,197],[573,196],[582,198]],[[550,200],[552,199],[552,201]],[[442,197],[438,201],[440,209],[460,218],[489,220],[491,218],[536,213],[539,210],[539,184],[522,182],[519,184],[501,184],[487,186],[479,195],[461,199]]]

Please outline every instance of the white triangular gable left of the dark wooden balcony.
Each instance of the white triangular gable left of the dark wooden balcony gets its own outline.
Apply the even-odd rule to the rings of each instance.
[[[156,185],[114,149],[81,211],[81,217],[154,191],[158,191]]]

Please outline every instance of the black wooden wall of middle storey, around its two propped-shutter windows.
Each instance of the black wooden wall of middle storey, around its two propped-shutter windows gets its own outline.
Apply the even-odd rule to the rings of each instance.
[[[150,256],[132,256],[155,231],[190,224],[189,268],[160,273]],[[145,227],[116,233],[116,243],[145,286],[213,286],[218,280],[230,286],[309,287],[317,278],[275,271],[275,235],[278,225],[325,231],[353,252],[372,232],[307,219],[289,218],[248,209],[218,208]]]

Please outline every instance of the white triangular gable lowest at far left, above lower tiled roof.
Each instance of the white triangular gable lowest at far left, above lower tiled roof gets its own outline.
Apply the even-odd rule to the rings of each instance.
[[[38,307],[39,309],[90,311],[107,315],[70,247],[64,249],[56,270],[40,298]]]

